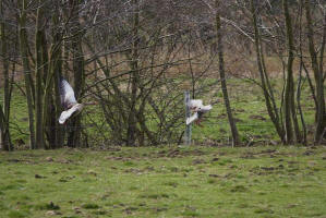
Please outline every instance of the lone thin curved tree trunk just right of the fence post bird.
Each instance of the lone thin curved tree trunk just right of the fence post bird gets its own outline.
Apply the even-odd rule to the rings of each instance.
[[[219,75],[221,81],[221,89],[224,94],[224,100],[227,109],[227,114],[229,119],[229,124],[232,132],[232,146],[237,146],[240,144],[239,133],[236,125],[236,121],[232,117],[232,110],[230,106],[230,100],[228,96],[228,89],[227,89],[227,81],[225,75],[225,63],[224,63],[224,50],[222,50],[222,29],[220,24],[220,17],[219,17],[219,0],[216,0],[216,33],[217,33],[217,52],[218,52],[218,60],[219,60]]]

